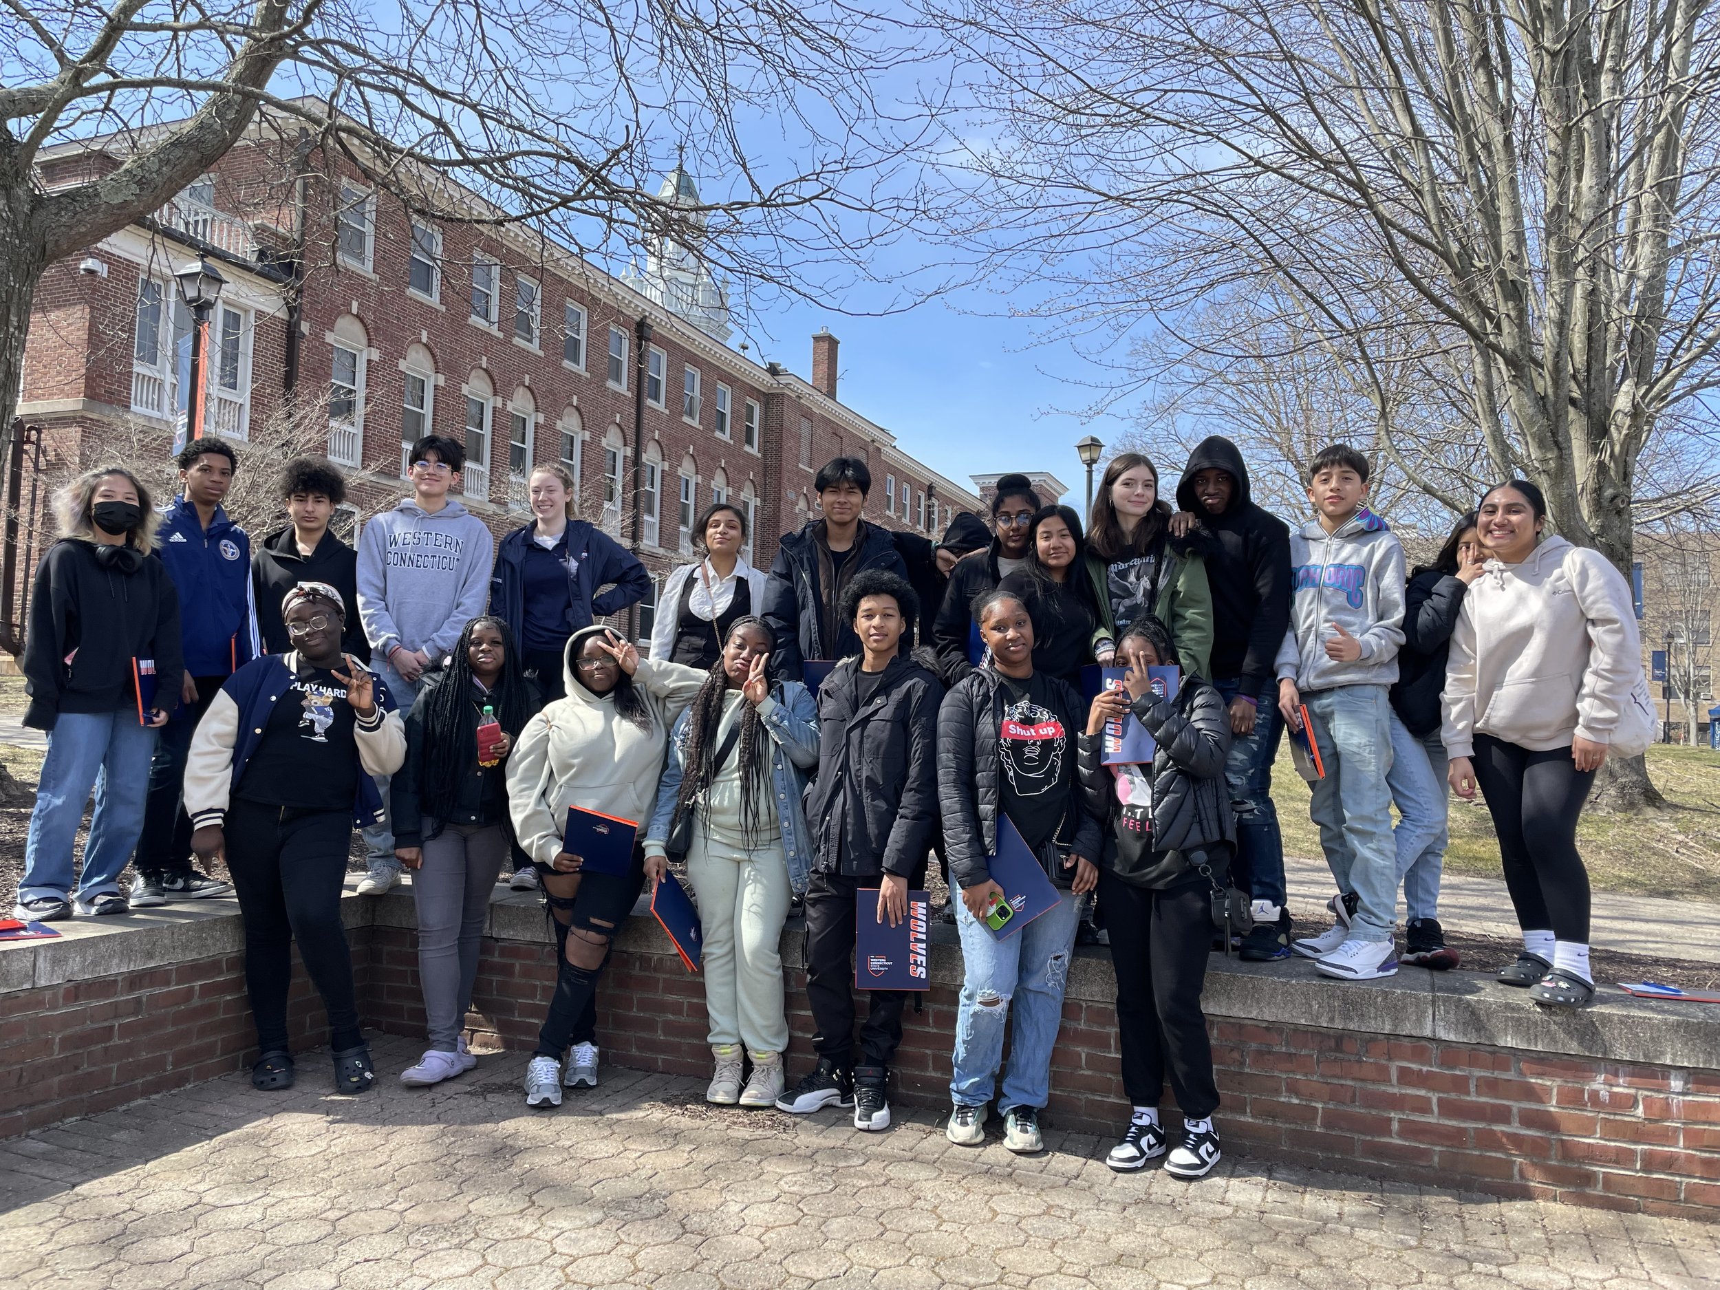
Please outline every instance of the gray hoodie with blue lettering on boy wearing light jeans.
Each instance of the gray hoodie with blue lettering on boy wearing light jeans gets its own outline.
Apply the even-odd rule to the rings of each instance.
[[[1362,657],[1326,655],[1333,623],[1362,643]],[[1278,679],[1297,690],[1391,685],[1404,643],[1404,547],[1366,506],[1328,533],[1318,519],[1290,535],[1290,630],[1278,647]]]

